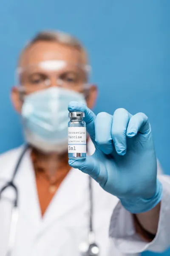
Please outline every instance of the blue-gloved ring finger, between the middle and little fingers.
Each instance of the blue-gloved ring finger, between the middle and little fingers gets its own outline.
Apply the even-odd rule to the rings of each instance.
[[[116,152],[125,155],[127,150],[126,131],[130,114],[124,108],[118,108],[113,114],[111,135]]]

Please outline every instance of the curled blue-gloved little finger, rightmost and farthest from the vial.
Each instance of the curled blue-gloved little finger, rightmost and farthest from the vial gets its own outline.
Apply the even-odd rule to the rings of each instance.
[[[127,127],[127,136],[134,137],[138,132],[141,134],[149,134],[151,131],[148,117],[144,113],[137,113],[130,118]]]

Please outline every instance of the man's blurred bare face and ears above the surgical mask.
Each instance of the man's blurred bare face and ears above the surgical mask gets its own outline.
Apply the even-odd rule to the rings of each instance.
[[[57,70],[42,69],[40,63],[49,61],[62,61],[65,65]],[[48,86],[61,86],[84,93],[88,77],[82,67],[86,64],[85,56],[77,49],[56,42],[40,41],[22,54],[19,67],[23,72],[19,76],[19,81],[26,94],[43,90]],[[91,86],[86,99],[89,108],[93,107],[95,99],[96,87]],[[12,90],[12,102],[15,109],[20,112],[22,101],[17,87]]]

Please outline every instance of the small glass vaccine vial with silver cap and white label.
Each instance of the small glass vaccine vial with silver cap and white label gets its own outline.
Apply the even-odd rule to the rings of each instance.
[[[68,158],[86,158],[86,125],[84,112],[69,112]]]

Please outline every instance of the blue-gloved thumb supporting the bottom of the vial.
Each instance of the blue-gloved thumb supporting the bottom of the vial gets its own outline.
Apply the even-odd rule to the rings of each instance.
[[[80,171],[87,173],[94,180],[96,180],[100,186],[104,186],[108,175],[106,174],[106,169],[100,168],[99,160],[94,158],[93,156],[88,156],[83,160],[80,159],[69,159],[69,165],[75,169],[79,169]]]

